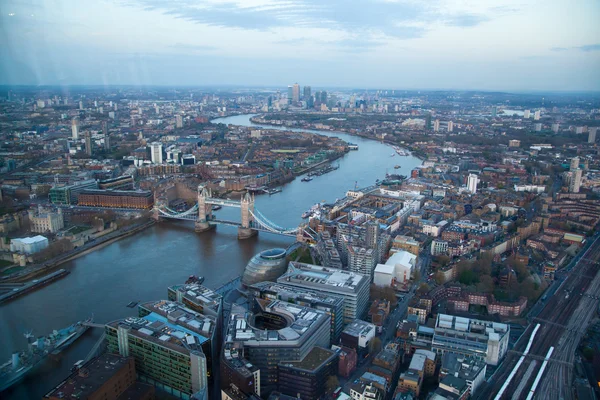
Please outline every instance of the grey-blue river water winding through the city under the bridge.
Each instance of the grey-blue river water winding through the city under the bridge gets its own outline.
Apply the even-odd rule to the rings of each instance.
[[[250,122],[251,117],[239,115],[213,122],[260,127]],[[280,193],[256,196],[255,207],[282,227],[297,226],[302,221],[301,214],[317,202],[341,198],[355,185],[373,185],[376,179],[385,177],[386,171],[394,172],[396,164],[401,166],[398,173],[408,175],[421,163],[415,157],[391,157],[393,149],[377,141],[344,133],[308,132],[338,136],[358,144],[359,150],[337,160],[339,169],[314,177],[311,182],[295,179]],[[239,212],[223,208],[217,214],[223,219],[238,220]],[[26,347],[23,333],[27,331],[47,334],[92,314],[101,323],[135,315],[137,309],[126,307],[130,301],[166,298],[168,286],[182,283],[192,274],[204,276],[205,285],[216,288],[240,275],[257,252],[292,242],[292,238],[262,232],[238,241],[236,228],[226,226],[197,234],[191,222],[156,224],[64,264],[62,267],[71,272],[65,278],[0,306],[0,363],[14,350]],[[68,375],[77,360],[86,356],[100,335],[100,329],[90,329],[63,352],[60,360],[48,359],[37,372],[0,397],[41,398]]]

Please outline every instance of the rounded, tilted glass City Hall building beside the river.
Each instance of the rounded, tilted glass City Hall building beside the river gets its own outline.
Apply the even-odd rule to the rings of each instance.
[[[274,248],[261,251],[246,265],[242,284],[245,287],[258,282],[275,282],[287,270],[286,250]]]

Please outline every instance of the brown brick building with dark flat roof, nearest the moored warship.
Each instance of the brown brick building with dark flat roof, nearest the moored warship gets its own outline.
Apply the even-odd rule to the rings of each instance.
[[[104,353],[77,368],[42,399],[153,400],[154,386],[135,378],[133,357]]]

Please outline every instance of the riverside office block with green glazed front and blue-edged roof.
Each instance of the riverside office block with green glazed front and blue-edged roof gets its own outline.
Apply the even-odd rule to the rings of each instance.
[[[159,301],[140,306],[139,318],[106,324],[108,351],[133,357],[139,380],[181,399],[206,399],[208,379],[205,343],[210,343],[214,320]]]

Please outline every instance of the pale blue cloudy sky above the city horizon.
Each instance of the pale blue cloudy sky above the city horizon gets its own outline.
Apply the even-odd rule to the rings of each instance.
[[[0,84],[600,90],[598,0],[0,0]]]

